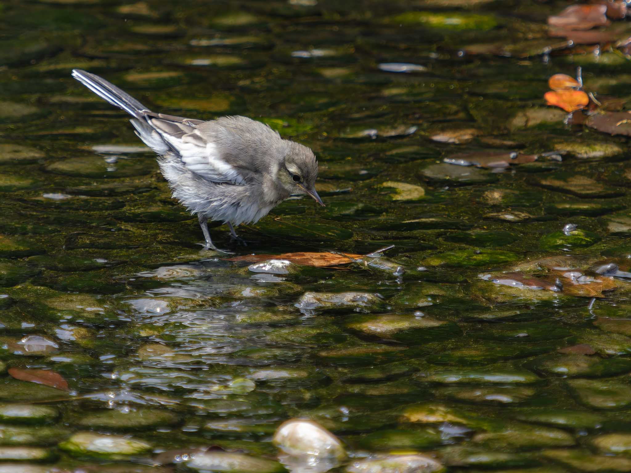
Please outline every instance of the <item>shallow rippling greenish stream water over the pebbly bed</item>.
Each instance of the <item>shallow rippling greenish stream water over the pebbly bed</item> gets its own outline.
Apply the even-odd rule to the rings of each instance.
[[[351,457],[630,471],[627,139],[567,127],[542,98],[582,66],[625,110],[629,66],[538,54],[565,5],[0,4],[0,472],[180,471],[208,447],[272,471],[256,462],[297,417]],[[512,55],[472,53],[497,45]],[[155,156],[74,67],[314,149],[327,207],[284,202],[237,229],[237,256],[394,248],[250,269],[201,250]],[[211,235],[230,246],[226,226]],[[144,446],[73,447],[87,430]]]

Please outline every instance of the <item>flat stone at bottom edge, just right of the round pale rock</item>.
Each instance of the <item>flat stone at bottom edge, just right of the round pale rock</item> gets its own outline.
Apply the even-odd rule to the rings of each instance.
[[[354,460],[346,465],[348,473],[439,473],[444,466],[425,455],[386,455]]]

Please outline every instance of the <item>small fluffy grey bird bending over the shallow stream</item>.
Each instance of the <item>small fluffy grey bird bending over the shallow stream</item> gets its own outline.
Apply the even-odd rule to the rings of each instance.
[[[228,253],[213,244],[208,220],[223,221],[232,239],[245,244],[234,227],[256,223],[292,194],[324,207],[315,191],[313,151],[266,124],[240,115],[204,121],[151,112],[96,74],[73,69],[72,76],[133,117],[136,135],[158,155],[172,197],[198,216],[205,249]]]

